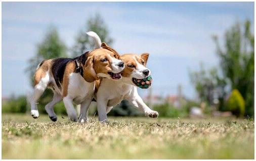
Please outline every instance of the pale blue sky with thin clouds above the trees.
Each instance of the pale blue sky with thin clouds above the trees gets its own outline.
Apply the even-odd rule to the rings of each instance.
[[[152,92],[160,96],[177,95],[181,84],[185,97],[197,97],[189,70],[219,67],[212,35],[223,45],[225,32],[245,20],[254,33],[254,2],[2,2],[2,97],[32,91],[25,69],[50,25],[71,48],[96,13],[120,54],[150,53]]]

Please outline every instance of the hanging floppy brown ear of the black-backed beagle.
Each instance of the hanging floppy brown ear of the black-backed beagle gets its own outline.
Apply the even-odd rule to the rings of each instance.
[[[86,65],[83,67],[83,78],[88,82],[93,82],[95,80],[98,80],[97,74],[93,68],[94,61],[93,57],[90,57],[86,61]]]

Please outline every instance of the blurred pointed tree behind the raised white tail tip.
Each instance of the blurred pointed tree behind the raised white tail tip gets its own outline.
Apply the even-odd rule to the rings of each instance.
[[[95,42],[90,38],[86,32],[94,31],[101,38],[102,42],[106,42],[111,46],[113,39],[109,36],[107,25],[100,14],[96,14],[89,18],[86,22],[86,26],[79,30],[78,35],[75,38],[75,45],[72,48],[72,56],[76,57],[89,50],[95,48]]]

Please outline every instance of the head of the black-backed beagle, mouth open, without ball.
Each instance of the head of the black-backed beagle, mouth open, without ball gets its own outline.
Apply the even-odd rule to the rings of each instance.
[[[88,53],[88,59],[82,66],[83,78],[88,82],[98,80],[98,77],[120,79],[124,64],[119,58],[120,55],[103,42],[101,48]]]

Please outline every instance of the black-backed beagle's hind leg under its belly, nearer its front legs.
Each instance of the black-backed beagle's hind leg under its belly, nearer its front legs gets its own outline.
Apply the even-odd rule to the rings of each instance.
[[[45,109],[46,109],[46,112],[48,113],[49,115],[49,118],[52,120],[52,121],[57,121],[57,116],[56,114],[54,113],[54,110],[53,110],[53,106],[60,102],[62,100],[62,96],[58,93],[54,93],[54,96],[53,96],[53,100],[51,102],[49,102],[46,106],[45,106]]]

